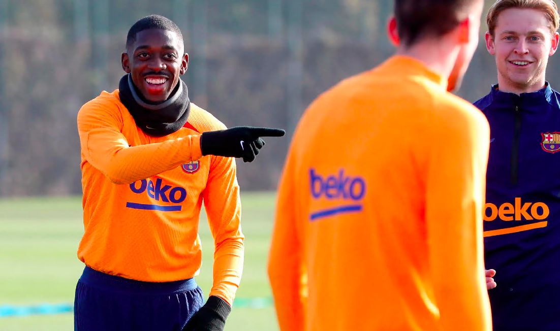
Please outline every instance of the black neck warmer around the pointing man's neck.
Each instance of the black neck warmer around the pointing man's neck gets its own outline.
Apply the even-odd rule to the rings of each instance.
[[[154,104],[142,98],[142,94],[132,82],[132,77],[126,74],[119,82],[119,96],[120,102],[127,107],[136,125],[145,134],[153,137],[178,131],[189,117],[189,92],[181,79],[166,101]]]

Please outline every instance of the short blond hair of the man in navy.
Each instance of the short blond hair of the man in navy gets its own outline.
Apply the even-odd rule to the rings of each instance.
[[[486,16],[488,31],[492,36],[494,35],[494,29],[496,29],[498,15],[509,8],[540,10],[547,16],[548,21],[550,22],[550,25],[548,26],[550,28],[550,32],[554,34],[554,32],[558,30],[560,18],[558,17],[558,7],[553,0],[497,0],[492,7],[490,7],[488,15]]]

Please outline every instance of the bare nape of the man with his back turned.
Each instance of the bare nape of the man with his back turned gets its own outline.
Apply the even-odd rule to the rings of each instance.
[[[459,49],[450,46],[445,39],[426,39],[417,42],[409,48],[399,47],[397,55],[410,56],[422,62],[428,69],[435,72],[446,80],[455,65]]]

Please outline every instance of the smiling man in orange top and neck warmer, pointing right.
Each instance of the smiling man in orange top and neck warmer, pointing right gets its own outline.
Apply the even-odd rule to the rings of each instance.
[[[86,264],[76,287],[74,329],[222,330],[244,254],[235,160],[251,162],[283,130],[234,127],[189,101],[180,75],[188,54],[174,22],[134,23],[112,93],[78,113]],[[206,304],[201,264],[204,203],[214,238]]]

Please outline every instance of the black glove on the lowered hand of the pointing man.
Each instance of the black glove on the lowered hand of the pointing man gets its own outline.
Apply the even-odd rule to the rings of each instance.
[[[186,323],[183,331],[222,331],[231,307],[221,297],[211,295]]]

